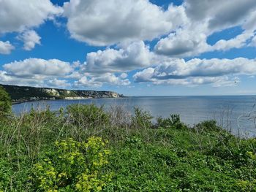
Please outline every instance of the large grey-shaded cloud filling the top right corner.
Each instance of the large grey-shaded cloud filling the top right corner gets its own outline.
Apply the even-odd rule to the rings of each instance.
[[[208,22],[208,28],[220,30],[243,22],[256,7],[254,0],[186,0],[186,13],[192,20]]]

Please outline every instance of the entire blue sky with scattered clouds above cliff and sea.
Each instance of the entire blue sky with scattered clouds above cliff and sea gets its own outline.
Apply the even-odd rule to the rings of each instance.
[[[0,83],[256,94],[255,0],[0,0]]]

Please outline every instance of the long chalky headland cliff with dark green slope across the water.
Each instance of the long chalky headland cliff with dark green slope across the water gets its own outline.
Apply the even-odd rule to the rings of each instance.
[[[82,91],[56,88],[34,88],[16,85],[1,85],[10,94],[13,102],[54,100],[54,99],[87,99],[118,98],[123,95],[113,91]]]

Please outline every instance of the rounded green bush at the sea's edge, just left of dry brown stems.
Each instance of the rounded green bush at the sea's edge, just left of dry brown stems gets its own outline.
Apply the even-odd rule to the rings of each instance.
[[[109,115],[103,111],[103,106],[97,107],[95,104],[69,105],[67,115],[72,123],[82,127],[105,126],[110,121]]]

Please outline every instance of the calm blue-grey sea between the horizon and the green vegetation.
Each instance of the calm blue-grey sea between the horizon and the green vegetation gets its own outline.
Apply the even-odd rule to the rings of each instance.
[[[120,99],[83,99],[83,100],[56,100],[34,101],[12,106],[13,112],[19,114],[31,109],[32,106],[50,110],[59,110],[69,104],[97,104],[104,105],[109,110],[113,105],[122,105],[129,112],[134,107],[151,112],[154,117],[167,117],[170,114],[179,114],[181,120],[194,125],[202,120],[217,120],[220,126],[230,129],[233,134],[246,137],[256,135],[254,117],[256,117],[256,96],[140,96]],[[239,120],[238,120],[239,119]]]

